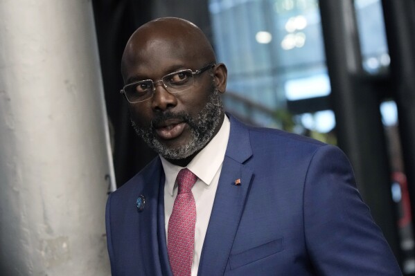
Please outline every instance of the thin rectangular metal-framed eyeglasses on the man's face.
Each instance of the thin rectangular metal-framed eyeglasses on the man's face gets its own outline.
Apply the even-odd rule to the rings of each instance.
[[[199,70],[192,71],[191,69],[180,70],[161,77],[161,80],[153,82],[152,80],[140,80],[127,84],[120,90],[120,93],[125,95],[125,98],[131,104],[137,102],[144,102],[152,98],[156,91],[157,82],[161,82],[168,93],[178,93],[186,91],[195,84],[194,76],[200,75],[204,71],[212,68],[215,64],[208,64]]]

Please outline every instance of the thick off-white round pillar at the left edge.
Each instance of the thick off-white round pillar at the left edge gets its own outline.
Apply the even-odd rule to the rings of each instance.
[[[0,275],[109,275],[94,28],[91,1],[0,1]]]

